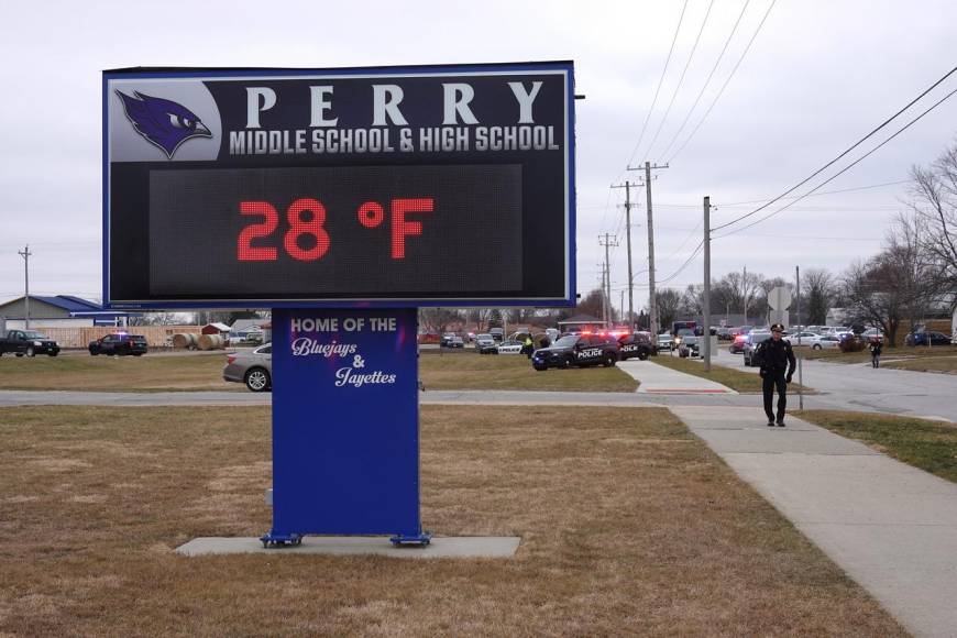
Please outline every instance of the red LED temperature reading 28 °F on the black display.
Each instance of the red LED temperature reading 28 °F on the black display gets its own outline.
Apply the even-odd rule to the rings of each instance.
[[[432,197],[399,198],[389,202],[392,213],[392,258],[406,257],[406,238],[422,234],[422,222],[406,219],[410,212],[432,212],[436,200]],[[254,239],[271,237],[279,226],[279,215],[267,201],[241,201],[240,213],[261,215],[265,219],[242,229],[237,241],[237,258],[241,262],[274,262],[278,251],[273,246],[253,246]],[[378,228],[385,221],[385,207],[378,201],[366,201],[356,211],[359,223],[365,228]],[[283,235],[283,248],[294,260],[315,262],[321,260],[330,245],[332,238],[326,231],[326,207],[318,199],[302,197],[295,200],[286,209],[286,222],[289,230]],[[312,237],[316,245],[304,249],[299,245],[302,237]]]

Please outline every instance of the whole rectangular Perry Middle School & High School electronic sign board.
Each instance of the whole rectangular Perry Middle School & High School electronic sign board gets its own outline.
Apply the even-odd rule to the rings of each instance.
[[[114,307],[574,301],[571,63],[103,75]]]

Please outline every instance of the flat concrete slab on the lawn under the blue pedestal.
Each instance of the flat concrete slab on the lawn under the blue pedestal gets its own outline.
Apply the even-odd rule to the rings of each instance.
[[[518,537],[433,537],[425,547],[394,547],[387,536],[307,536],[302,544],[263,548],[258,538],[195,538],[176,548],[183,556],[311,553],[324,556],[385,556],[389,558],[514,558]]]

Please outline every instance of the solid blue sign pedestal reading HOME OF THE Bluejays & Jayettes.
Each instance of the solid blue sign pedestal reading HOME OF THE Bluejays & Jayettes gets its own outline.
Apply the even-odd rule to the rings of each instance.
[[[428,544],[419,513],[417,311],[274,309],[273,529]]]

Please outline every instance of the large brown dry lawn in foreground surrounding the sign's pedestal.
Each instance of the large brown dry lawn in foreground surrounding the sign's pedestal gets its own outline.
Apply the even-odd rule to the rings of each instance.
[[[427,527],[514,560],[175,554],[268,528],[268,418],[0,413],[0,635],[903,635],[662,409],[424,407]]]

